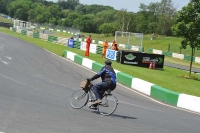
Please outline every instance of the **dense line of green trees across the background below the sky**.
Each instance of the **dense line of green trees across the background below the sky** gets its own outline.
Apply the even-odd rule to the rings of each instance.
[[[139,11],[116,10],[111,6],[84,5],[79,0],[0,0],[0,12],[33,23],[78,28],[82,32],[114,34],[116,30],[172,35],[177,14],[172,0],[141,3]]]

